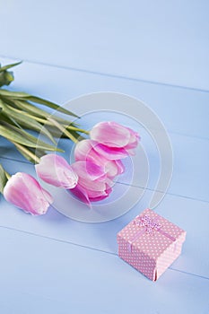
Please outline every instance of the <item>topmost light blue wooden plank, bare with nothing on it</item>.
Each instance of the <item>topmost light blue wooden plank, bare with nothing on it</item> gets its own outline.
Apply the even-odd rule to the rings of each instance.
[[[1,53],[208,90],[207,13],[207,2],[188,0],[8,2]]]

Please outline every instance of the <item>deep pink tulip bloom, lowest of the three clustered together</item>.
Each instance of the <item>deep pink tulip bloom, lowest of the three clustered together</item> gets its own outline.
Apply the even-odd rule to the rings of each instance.
[[[87,205],[100,201],[111,192],[112,181],[102,166],[91,161],[75,161],[72,164],[74,172],[78,175],[78,184],[71,192]]]

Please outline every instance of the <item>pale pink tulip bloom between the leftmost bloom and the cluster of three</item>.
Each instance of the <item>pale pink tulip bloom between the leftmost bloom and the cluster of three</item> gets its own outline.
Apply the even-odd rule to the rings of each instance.
[[[55,153],[40,158],[36,171],[40,179],[60,188],[74,188],[78,177],[67,161]]]

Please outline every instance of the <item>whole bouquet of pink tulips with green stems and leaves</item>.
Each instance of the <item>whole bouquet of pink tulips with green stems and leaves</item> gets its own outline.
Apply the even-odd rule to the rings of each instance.
[[[0,86],[13,80],[7,70],[14,65],[0,67]],[[0,135],[35,164],[37,175],[48,184],[65,188],[89,206],[108,197],[115,179],[125,171],[122,160],[135,154],[139,135],[113,121],[100,122],[89,132],[64,118],[51,118],[33,102],[76,116],[48,100],[0,89]],[[52,144],[38,141],[29,130],[48,136]],[[57,131],[75,143],[72,164],[60,155]],[[45,214],[53,203],[53,197],[36,179],[23,172],[11,176],[1,164],[0,192],[8,202],[30,214]]]

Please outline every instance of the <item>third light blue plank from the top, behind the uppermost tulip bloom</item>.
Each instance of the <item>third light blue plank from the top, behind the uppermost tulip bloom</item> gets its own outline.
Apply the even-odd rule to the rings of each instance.
[[[133,127],[135,128],[135,126]],[[137,130],[137,128],[135,129]],[[147,135],[143,130],[140,131],[140,134],[142,135],[142,141],[137,154],[132,160],[126,159],[126,171],[118,178],[118,181],[139,188],[155,189],[161,176],[161,154],[150,135]],[[170,138],[173,152],[173,170],[170,169],[170,171],[172,170],[172,176],[169,193],[209,201],[209,141],[173,134]],[[73,154],[72,144],[70,144],[70,141],[60,142],[62,143],[60,147],[65,149],[63,156],[70,162],[69,156]],[[11,158],[14,161],[24,161],[20,153],[14,153],[11,144],[4,142],[0,153],[1,161],[7,170],[12,172],[24,170],[25,163],[13,161],[11,163],[9,161]],[[169,159],[164,167],[171,167]],[[32,166],[27,166],[27,170],[30,168],[32,169]]]

